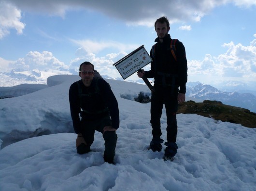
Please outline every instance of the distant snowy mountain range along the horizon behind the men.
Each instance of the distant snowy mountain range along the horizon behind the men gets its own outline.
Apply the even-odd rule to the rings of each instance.
[[[2,87],[16,86],[20,84],[46,84],[47,76],[54,76],[59,74],[71,74],[71,71],[38,71],[31,70],[26,72],[11,71],[9,73],[0,73],[0,97],[17,96],[8,93],[8,89]],[[122,77],[113,78],[102,75],[103,78],[115,79],[123,81]],[[134,83],[143,84],[143,80],[139,78],[136,81],[128,80]],[[150,80],[151,81],[151,80]],[[251,112],[256,112],[256,96],[252,93],[241,93],[238,91],[221,91],[210,85],[205,85],[200,82],[188,82],[186,84],[186,97],[191,97],[196,102],[203,102],[204,100],[220,101],[223,104],[232,105],[249,109]],[[17,87],[22,88],[22,87]],[[5,92],[5,93],[4,93]],[[29,92],[29,90],[28,90]],[[244,91],[243,91],[244,92]],[[189,99],[189,98],[188,98]]]

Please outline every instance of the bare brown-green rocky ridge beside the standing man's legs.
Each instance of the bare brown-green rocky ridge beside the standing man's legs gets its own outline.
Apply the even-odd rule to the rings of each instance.
[[[177,114],[198,114],[223,122],[256,128],[256,113],[250,112],[248,109],[225,105],[217,101],[183,102],[179,104]]]

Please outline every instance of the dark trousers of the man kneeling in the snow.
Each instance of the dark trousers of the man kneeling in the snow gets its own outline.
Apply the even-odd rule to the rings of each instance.
[[[115,147],[117,142],[117,135],[115,131],[105,131],[103,133],[103,128],[106,126],[111,126],[111,118],[109,115],[104,116],[100,119],[89,121],[86,119],[81,120],[81,126],[83,127],[82,135],[87,143],[86,146],[77,147],[77,153],[83,154],[90,151],[90,146],[94,141],[95,130],[102,133],[103,139],[105,140],[105,151],[104,160],[106,162],[113,161],[115,155]]]

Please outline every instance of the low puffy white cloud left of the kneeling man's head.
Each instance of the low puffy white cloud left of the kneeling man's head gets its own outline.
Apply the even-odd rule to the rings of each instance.
[[[26,71],[39,69],[55,69],[55,70],[67,70],[69,66],[60,62],[53,54],[49,51],[30,51],[24,58],[20,58],[17,61],[11,62],[9,67],[18,71]]]

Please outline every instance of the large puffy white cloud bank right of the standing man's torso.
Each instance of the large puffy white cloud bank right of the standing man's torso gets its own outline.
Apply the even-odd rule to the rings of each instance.
[[[202,80],[211,83],[232,79],[256,81],[256,43],[253,42],[249,46],[226,43],[223,47],[227,51],[217,57],[207,54],[203,61],[188,61],[188,76],[201,75]]]

